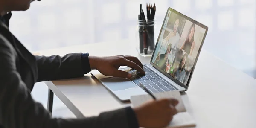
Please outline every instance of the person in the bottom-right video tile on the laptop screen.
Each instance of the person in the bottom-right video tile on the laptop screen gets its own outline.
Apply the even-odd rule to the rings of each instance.
[[[183,57],[181,58],[179,67],[174,71],[174,78],[183,83],[185,75],[186,75],[186,59],[187,59],[187,54],[184,54]]]

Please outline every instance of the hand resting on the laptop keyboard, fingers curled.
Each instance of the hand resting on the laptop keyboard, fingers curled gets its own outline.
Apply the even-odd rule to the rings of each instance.
[[[143,65],[138,58],[133,56],[109,56],[96,57],[88,56],[91,69],[96,69],[105,76],[117,76],[122,78],[131,78],[131,73],[118,70],[120,66],[128,66],[134,68],[140,74],[144,75]]]

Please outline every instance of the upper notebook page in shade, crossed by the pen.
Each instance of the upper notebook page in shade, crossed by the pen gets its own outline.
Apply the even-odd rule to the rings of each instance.
[[[182,102],[180,92],[179,91],[170,91],[170,92],[163,92],[163,93],[155,93],[154,96],[157,99],[161,98],[175,98],[179,101],[179,104],[176,106],[176,109],[178,112],[184,112],[186,111],[186,108]],[[151,100],[152,97],[148,94],[146,95],[138,95],[138,96],[131,96],[131,104],[134,107],[137,107],[139,105],[142,105],[144,102],[147,102],[148,100]]]

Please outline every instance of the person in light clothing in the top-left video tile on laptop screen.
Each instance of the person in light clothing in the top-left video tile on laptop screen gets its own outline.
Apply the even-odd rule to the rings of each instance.
[[[164,54],[167,49],[167,44],[171,43],[172,45],[176,46],[177,43],[180,41],[180,34],[177,31],[179,28],[180,24],[180,19],[179,16],[175,17],[174,24],[173,24],[173,29],[169,34],[166,36],[166,38],[163,39],[161,49],[160,49],[160,54]]]

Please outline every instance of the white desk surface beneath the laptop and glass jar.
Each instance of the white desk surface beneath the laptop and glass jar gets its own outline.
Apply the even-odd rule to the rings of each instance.
[[[134,55],[128,41],[87,44],[41,51],[42,55],[89,52],[90,55]],[[139,57],[143,63],[150,58]],[[98,115],[130,105],[119,102],[89,74],[83,78],[47,81],[47,86],[78,117]],[[201,51],[183,102],[197,128],[256,128],[256,79]]]

